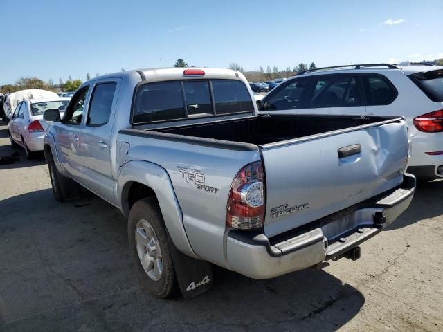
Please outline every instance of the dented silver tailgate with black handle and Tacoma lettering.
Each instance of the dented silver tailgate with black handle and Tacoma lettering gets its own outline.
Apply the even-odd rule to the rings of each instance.
[[[400,185],[408,132],[397,119],[260,148],[272,237]]]

